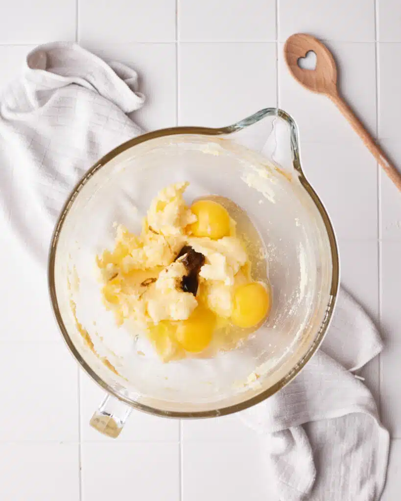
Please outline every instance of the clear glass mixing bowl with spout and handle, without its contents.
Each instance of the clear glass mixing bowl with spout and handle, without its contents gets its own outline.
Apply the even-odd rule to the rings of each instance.
[[[105,310],[95,257],[112,247],[115,221],[138,232],[151,199],[178,181],[190,182],[188,203],[220,195],[251,218],[266,248],[273,305],[239,348],[162,363]],[[108,153],[71,193],[49,258],[51,301],[64,339],[109,393],[91,421],[109,436],[119,434],[132,408],[212,417],[269,397],[322,342],[338,284],[334,231],[301,170],[295,123],[273,108],[221,129],[143,134]]]

